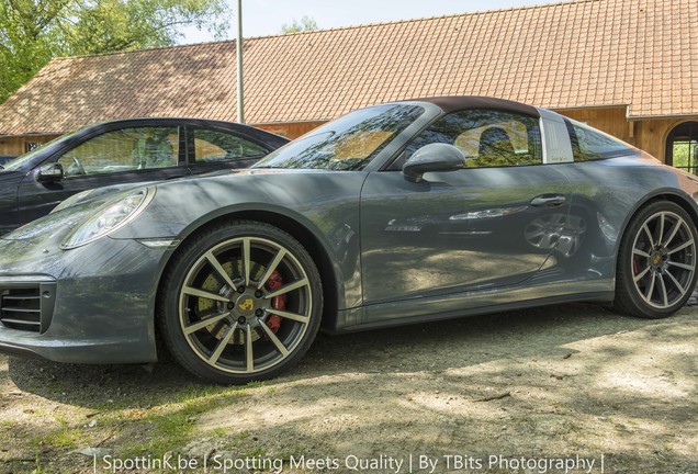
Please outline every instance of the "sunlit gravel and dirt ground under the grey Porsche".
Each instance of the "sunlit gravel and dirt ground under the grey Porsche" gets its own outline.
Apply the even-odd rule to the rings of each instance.
[[[0,357],[0,472],[698,473],[697,315],[575,304],[320,336],[241,388]]]

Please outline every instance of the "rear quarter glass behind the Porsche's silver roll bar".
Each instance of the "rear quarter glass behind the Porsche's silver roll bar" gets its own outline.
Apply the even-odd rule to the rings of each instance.
[[[583,123],[565,119],[575,161],[638,155],[640,150]]]

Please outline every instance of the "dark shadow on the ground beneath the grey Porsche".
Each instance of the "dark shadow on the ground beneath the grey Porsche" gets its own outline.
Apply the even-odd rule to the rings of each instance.
[[[266,384],[344,373],[439,372],[502,358],[563,357],[574,352],[565,345],[652,324],[656,321],[620,316],[597,305],[568,304],[339,336],[320,334],[296,368]],[[158,405],[176,400],[182,392],[217,390],[167,356],[148,365],[10,358],[8,366],[20,390],[82,407],[112,403],[135,407],[144,400]]]

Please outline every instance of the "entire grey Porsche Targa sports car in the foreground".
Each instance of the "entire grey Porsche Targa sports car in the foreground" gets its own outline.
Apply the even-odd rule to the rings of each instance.
[[[698,179],[487,98],[358,110],[251,169],[77,194],[0,240],[0,350],[286,370],[319,328],[561,302],[665,317],[696,285]]]

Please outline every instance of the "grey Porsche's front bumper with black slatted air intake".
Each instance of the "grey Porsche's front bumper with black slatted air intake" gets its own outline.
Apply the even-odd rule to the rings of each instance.
[[[157,284],[169,251],[109,237],[72,250],[0,240],[0,352],[155,361]]]

